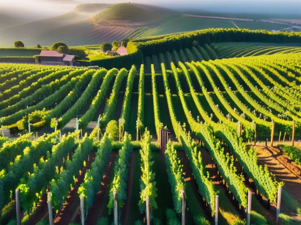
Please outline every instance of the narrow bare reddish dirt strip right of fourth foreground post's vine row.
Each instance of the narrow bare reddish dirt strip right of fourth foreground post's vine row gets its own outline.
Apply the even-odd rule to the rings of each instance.
[[[126,200],[124,201],[123,204],[123,210],[121,212],[121,221],[122,224],[127,224],[128,223],[128,217],[129,217],[129,209],[130,209],[130,204],[131,204],[131,194],[132,194],[132,184],[133,184],[133,175],[134,175],[134,159],[137,151],[133,151],[131,161],[130,161],[130,166],[129,166],[129,177],[128,181],[126,182]]]

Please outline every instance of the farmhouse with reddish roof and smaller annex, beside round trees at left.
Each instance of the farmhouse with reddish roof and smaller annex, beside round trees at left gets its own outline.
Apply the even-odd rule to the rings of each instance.
[[[75,66],[75,55],[67,55],[52,50],[42,50],[39,63],[43,65]]]

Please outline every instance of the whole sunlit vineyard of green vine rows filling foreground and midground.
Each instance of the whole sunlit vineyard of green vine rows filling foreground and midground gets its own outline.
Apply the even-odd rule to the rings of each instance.
[[[22,224],[47,224],[49,201],[54,224],[143,224],[147,201],[152,223],[180,224],[182,192],[186,224],[213,223],[217,195],[219,224],[244,224],[248,190],[251,224],[271,224],[279,186],[281,224],[298,224],[286,214],[300,209],[300,150],[272,145],[301,135],[299,48],[197,43],[121,69],[0,64],[0,124],[14,137],[0,137],[1,224],[16,189]],[[267,138],[295,184],[260,155]]]

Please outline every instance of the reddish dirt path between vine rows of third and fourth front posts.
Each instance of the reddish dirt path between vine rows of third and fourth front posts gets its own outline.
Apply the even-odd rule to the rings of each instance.
[[[114,162],[116,160],[117,155],[118,155],[117,151],[111,152],[109,162],[107,163],[106,170],[104,172],[104,176],[101,181],[100,190],[98,191],[98,193],[95,196],[95,202],[94,202],[93,206],[89,209],[88,216],[85,220],[85,224],[89,224],[89,225],[96,224],[101,212],[103,211],[103,209],[105,207],[107,207],[106,202],[102,201],[102,199],[104,198],[105,194],[108,193],[108,191],[106,191],[106,190],[108,188],[110,188],[109,185],[110,185],[110,180],[111,180],[111,174],[112,174]],[[78,216],[79,216],[79,220],[80,220],[80,210],[78,211],[76,218],[78,218]],[[77,221],[77,219],[76,219],[76,221]]]

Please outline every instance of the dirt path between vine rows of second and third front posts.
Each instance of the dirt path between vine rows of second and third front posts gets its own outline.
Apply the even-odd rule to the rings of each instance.
[[[72,222],[79,210],[80,199],[77,193],[80,184],[84,182],[86,170],[91,168],[92,162],[95,160],[95,152],[90,152],[89,160],[86,162],[86,166],[80,172],[79,177],[76,178],[76,183],[67,197],[67,201],[63,204],[60,214],[53,221],[54,224],[63,225]]]

